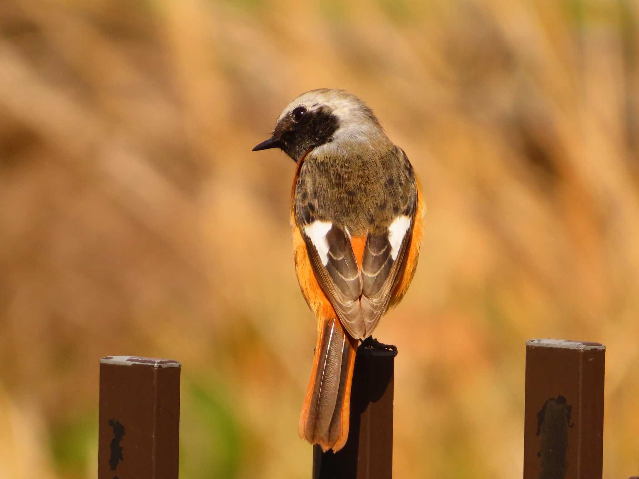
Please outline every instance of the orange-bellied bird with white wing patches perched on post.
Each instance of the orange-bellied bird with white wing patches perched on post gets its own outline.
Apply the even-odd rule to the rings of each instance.
[[[412,282],[424,198],[404,150],[373,110],[342,89],[302,93],[272,136],[296,163],[291,188],[293,257],[318,338],[298,424],[324,452],[348,439],[355,354]]]

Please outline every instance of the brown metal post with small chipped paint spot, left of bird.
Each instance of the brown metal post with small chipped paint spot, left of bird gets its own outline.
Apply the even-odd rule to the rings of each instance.
[[[178,479],[178,361],[100,360],[98,479]]]

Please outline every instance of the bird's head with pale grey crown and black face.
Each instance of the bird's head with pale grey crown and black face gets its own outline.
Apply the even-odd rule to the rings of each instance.
[[[302,93],[284,109],[272,137],[253,148],[280,148],[298,162],[315,148],[344,148],[373,142],[383,128],[366,103],[344,90],[321,88]]]

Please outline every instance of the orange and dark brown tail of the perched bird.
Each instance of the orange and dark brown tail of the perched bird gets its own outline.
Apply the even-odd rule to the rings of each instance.
[[[319,324],[311,381],[306,390],[300,437],[326,452],[339,451],[348,438],[351,383],[357,340],[344,331],[339,319]]]

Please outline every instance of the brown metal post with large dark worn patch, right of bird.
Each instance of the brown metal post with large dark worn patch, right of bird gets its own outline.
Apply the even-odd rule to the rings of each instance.
[[[606,347],[526,343],[524,479],[601,479]]]

